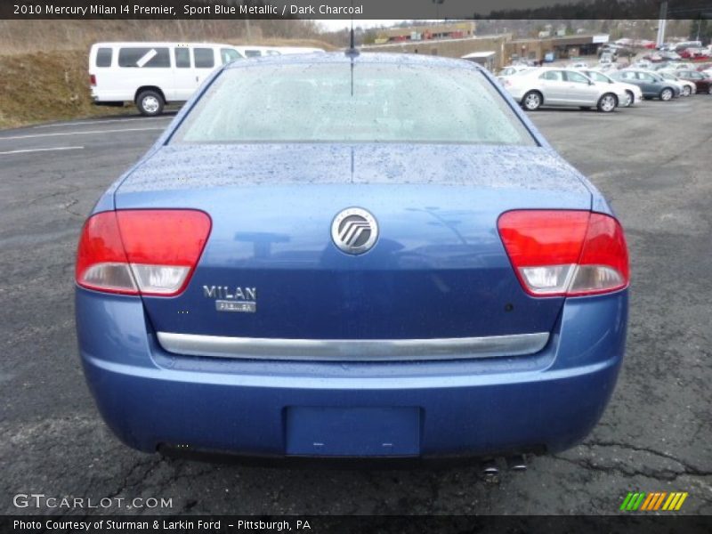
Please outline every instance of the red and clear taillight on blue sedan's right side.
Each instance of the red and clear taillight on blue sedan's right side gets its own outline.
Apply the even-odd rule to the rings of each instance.
[[[499,217],[498,229],[530,295],[596,295],[628,285],[626,238],[610,215],[511,211]]]

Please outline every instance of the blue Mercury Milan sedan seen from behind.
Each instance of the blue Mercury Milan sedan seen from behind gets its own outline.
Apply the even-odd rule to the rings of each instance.
[[[565,449],[627,328],[601,194],[485,70],[401,54],[217,71],[93,208],[76,279],[88,384],[144,451]]]

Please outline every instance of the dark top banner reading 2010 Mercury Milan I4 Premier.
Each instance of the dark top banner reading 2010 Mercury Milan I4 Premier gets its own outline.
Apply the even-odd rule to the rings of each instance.
[[[711,0],[2,0],[0,19],[712,19]]]

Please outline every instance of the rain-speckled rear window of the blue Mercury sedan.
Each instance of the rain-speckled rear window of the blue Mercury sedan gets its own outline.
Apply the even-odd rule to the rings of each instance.
[[[173,139],[536,145],[480,71],[376,63],[227,69]]]

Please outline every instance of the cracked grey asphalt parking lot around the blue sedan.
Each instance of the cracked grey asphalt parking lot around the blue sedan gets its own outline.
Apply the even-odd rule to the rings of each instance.
[[[79,364],[74,252],[95,200],[171,117],[0,132],[4,514],[53,512],[16,508],[18,493],[169,498],[159,511],[190,514],[615,514],[632,490],[686,491],[680,513],[712,514],[711,111],[712,96],[699,95],[611,114],[530,115],[627,230],[627,359],[587,441],[494,479],[477,465],[285,470],[126,448],[101,422]],[[88,511],[157,512],[117,504]]]

